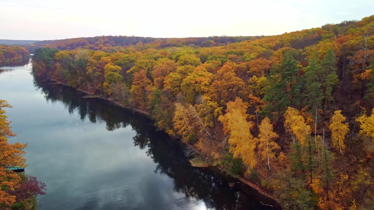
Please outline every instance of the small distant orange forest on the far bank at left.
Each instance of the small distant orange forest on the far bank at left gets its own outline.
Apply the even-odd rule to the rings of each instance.
[[[16,45],[0,45],[0,63],[28,58],[25,47]]]

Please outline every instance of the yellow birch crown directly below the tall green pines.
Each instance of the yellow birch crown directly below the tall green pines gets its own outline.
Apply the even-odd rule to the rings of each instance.
[[[284,127],[290,133],[293,143],[298,141],[302,145],[306,145],[306,140],[310,135],[310,126],[305,123],[300,112],[295,108],[288,107],[284,118]]]

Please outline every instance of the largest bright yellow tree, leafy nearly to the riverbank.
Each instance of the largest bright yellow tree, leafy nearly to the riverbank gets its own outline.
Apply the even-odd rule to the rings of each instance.
[[[254,151],[256,142],[250,131],[254,124],[247,121],[247,108],[247,103],[236,98],[235,101],[227,103],[226,114],[220,115],[218,120],[223,124],[224,132],[230,134],[230,152],[233,152],[234,157],[242,158],[249,172],[257,161]]]

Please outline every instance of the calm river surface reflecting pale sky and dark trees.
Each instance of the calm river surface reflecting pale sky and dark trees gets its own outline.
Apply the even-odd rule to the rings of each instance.
[[[183,145],[147,117],[31,69],[0,67],[0,99],[14,107],[9,141],[28,143],[25,173],[47,185],[38,209],[273,209],[236,179],[191,167]]]

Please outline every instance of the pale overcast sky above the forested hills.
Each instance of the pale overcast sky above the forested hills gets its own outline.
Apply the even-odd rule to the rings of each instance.
[[[0,0],[0,39],[276,35],[374,15],[373,0]]]

